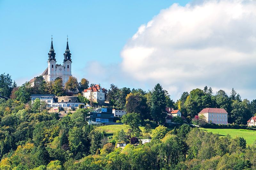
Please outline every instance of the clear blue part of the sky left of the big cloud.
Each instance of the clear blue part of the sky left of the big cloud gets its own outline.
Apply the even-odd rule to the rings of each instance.
[[[72,72],[87,78],[87,63],[120,63],[120,51],[138,27],[174,2],[1,0],[1,73],[20,85],[43,72],[51,35],[57,62],[62,62],[68,34]]]

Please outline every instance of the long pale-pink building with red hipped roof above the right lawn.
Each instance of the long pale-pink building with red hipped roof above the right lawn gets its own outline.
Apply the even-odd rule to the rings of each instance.
[[[205,108],[198,113],[200,115],[204,115],[206,122],[228,124],[228,112],[222,108]]]

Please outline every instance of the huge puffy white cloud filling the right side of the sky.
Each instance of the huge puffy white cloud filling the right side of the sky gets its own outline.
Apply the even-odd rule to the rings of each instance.
[[[121,66],[137,81],[160,82],[175,99],[205,85],[234,87],[253,99],[255,28],[256,1],[172,4],[138,28],[121,52]]]

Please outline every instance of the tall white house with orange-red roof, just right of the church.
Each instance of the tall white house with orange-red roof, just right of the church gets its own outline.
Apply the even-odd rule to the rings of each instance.
[[[96,84],[88,89],[84,89],[82,92],[84,97],[90,100],[90,95],[92,92],[92,100],[93,102],[98,102],[103,104],[105,102],[105,93],[102,91],[99,84]]]

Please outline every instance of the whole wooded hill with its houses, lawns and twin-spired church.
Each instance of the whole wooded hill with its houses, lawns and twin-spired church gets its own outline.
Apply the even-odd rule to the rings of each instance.
[[[72,76],[51,41],[47,68],[0,75],[0,169],[255,169],[256,100],[232,89],[109,89]],[[209,133],[210,132],[210,133]]]

